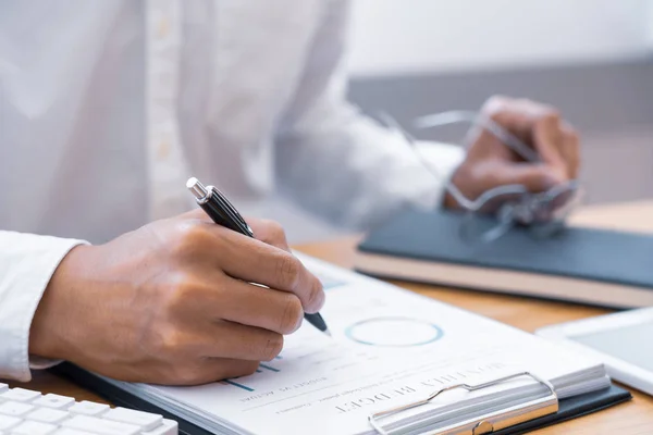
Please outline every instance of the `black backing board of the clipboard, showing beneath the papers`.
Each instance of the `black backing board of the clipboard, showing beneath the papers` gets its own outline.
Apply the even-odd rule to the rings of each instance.
[[[180,434],[182,435],[211,435],[211,432],[205,431],[185,420],[181,420],[180,418],[157,407],[156,405],[135,397],[132,394],[118,388],[102,378],[89,374],[85,370],[82,370],[71,363],[57,365],[53,369],[50,369],[50,371],[60,376],[67,377],[83,387],[95,391],[99,396],[116,406],[137,409],[146,412],[153,412],[162,414],[165,419],[175,420],[180,424]],[[571,420],[577,417],[587,415],[592,412],[628,401],[631,398],[632,395],[628,390],[612,385],[609,388],[605,388],[595,393],[589,393],[581,396],[563,399],[559,402],[558,412],[555,414],[545,415],[519,425],[507,427],[503,431],[493,432],[493,435],[523,434],[537,428],[542,428]]]

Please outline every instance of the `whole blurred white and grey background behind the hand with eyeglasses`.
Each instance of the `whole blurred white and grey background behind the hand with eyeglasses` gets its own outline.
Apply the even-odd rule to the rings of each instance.
[[[653,0],[353,1],[350,99],[365,111],[410,129],[494,94],[547,102],[580,129],[587,202],[653,198]],[[310,217],[289,231],[340,233]]]

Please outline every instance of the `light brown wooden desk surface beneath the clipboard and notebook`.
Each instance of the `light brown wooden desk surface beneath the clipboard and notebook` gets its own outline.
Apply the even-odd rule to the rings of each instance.
[[[653,201],[587,208],[575,215],[574,224],[653,233]],[[297,247],[298,250],[350,268],[357,238]],[[414,291],[496,319],[532,332],[541,326],[607,313],[607,310],[546,302],[477,291],[452,290],[419,284],[396,283]],[[17,384],[14,384],[17,386]],[[73,396],[78,400],[103,401],[98,396],[49,373],[35,373],[26,388]],[[628,403],[535,432],[550,434],[652,434],[653,399],[633,391]]]

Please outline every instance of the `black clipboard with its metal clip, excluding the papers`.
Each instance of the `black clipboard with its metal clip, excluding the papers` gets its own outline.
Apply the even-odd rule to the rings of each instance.
[[[211,432],[201,428],[193,422],[181,419],[174,413],[158,407],[155,403],[146,401],[139,397],[132,395],[113,384],[103,381],[101,377],[87,372],[78,366],[69,362],[57,365],[49,369],[50,372],[66,377],[86,388],[94,390],[99,396],[103,397],[108,401],[126,408],[137,409],[147,412],[153,412],[162,414],[167,419],[175,420],[180,425],[180,434],[182,435],[212,435]],[[531,377],[542,384],[546,385],[552,391],[552,395],[547,395],[544,398],[533,400],[528,403],[522,403],[519,407],[503,409],[497,412],[488,413],[480,419],[468,421],[457,424],[455,427],[447,427],[447,432],[426,432],[429,435],[434,434],[472,434],[472,435],[519,435],[530,431],[546,427],[553,424],[557,424],[567,420],[576,419],[581,415],[590,414],[605,408],[613,407],[618,403],[626,402],[632,399],[632,395],[620,387],[612,385],[604,390],[588,393],[571,398],[558,399],[557,395],[551,384],[546,381],[540,380],[538,376],[532,375],[529,372],[516,373],[505,377],[500,377],[485,382],[483,384],[467,385],[456,384],[443,387],[438,391],[433,391],[429,397],[423,400],[419,400],[411,403],[406,403],[403,407],[377,411],[368,417],[368,421],[373,420],[374,422],[382,421],[384,418],[390,417],[396,412],[403,412],[407,409],[417,408],[426,405],[427,402],[434,399],[436,396],[445,394],[456,388],[463,389],[480,389],[492,385],[496,385],[502,382],[507,382],[516,377]],[[370,426],[371,426],[370,422]],[[392,434],[396,435],[401,432],[385,431],[381,426],[381,432],[377,430],[378,434]],[[465,432],[467,431],[467,432]],[[412,432],[415,433],[415,432]]]

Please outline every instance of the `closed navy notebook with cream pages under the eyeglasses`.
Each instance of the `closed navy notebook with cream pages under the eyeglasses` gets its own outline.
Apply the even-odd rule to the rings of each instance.
[[[357,271],[384,278],[612,308],[653,306],[653,236],[567,227],[547,238],[522,227],[483,243],[460,236],[463,215],[408,212],[358,246]]]

